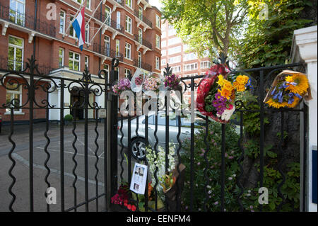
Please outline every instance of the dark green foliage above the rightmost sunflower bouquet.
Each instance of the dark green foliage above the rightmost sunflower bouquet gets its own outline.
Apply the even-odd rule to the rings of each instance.
[[[257,1],[254,1],[254,3]],[[268,19],[259,18],[262,8],[253,5],[243,38],[237,40],[237,60],[241,68],[284,64],[290,56],[293,31],[310,20],[300,18],[310,1],[261,1],[268,6]]]

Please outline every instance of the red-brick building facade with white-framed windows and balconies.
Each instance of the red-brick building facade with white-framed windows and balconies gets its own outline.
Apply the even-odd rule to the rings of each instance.
[[[75,30],[69,26],[81,4],[86,4],[86,38],[83,51],[78,47]],[[95,81],[100,69],[110,72],[111,60],[119,59],[119,79],[137,68],[160,73],[161,13],[148,0],[11,0],[0,3],[0,68],[20,70],[34,55],[40,72],[54,77],[79,79],[88,68]],[[1,76],[1,75],[0,75]],[[35,96],[40,97],[39,94]],[[12,98],[27,98],[27,91],[16,93],[0,87],[1,103]],[[67,106],[78,98],[64,92],[64,103],[59,103],[60,91],[47,97],[50,104]],[[90,97],[103,106],[103,97]],[[24,110],[23,110],[24,111]],[[28,120],[28,113],[15,111],[15,120]],[[51,111],[51,110],[50,110]],[[53,110],[52,110],[53,111]],[[0,109],[3,119],[9,115]],[[70,113],[65,111],[65,114]],[[50,113],[50,120],[59,114]],[[94,118],[91,111],[89,118]],[[35,113],[45,118],[45,111]],[[80,119],[83,114],[80,113]]]

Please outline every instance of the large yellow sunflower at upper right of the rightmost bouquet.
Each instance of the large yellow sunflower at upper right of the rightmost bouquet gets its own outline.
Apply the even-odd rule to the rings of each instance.
[[[286,77],[285,81],[288,82],[286,90],[294,94],[303,95],[309,88],[308,79],[305,74],[293,74],[293,76]]]

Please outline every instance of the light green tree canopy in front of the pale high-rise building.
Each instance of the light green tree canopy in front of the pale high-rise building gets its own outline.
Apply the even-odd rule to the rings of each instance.
[[[190,50],[210,57],[233,52],[234,33],[240,33],[247,20],[247,0],[163,0],[163,18],[172,24]]]

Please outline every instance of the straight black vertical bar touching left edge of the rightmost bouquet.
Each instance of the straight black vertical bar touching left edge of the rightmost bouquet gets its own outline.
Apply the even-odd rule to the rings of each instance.
[[[264,71],[259,74],[259,105],[260,105],[260,143],[259,143],[259,187],[263,187],[264,180]],[[263,210],[263,205],[259,205],[259,211]]]

